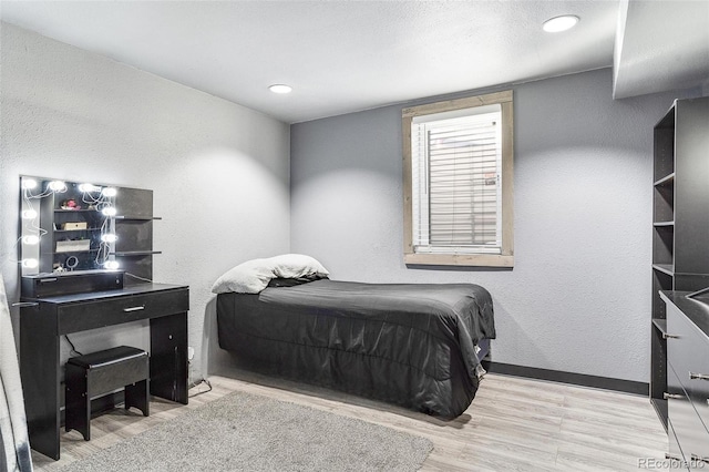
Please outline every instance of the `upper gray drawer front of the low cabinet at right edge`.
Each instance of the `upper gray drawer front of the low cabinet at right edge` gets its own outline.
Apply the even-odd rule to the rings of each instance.
[[[671,305],[667,331],[677,336],[667,340],[667,360],[709,432],[709,338]]]

